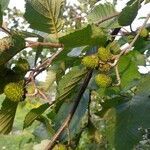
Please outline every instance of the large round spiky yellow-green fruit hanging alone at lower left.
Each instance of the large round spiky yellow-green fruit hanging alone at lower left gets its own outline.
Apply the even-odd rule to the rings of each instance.
[[[22,83],[10,82],[4,88],[4,94],[8,99],[19,102],[23,99],[24,90]]]

